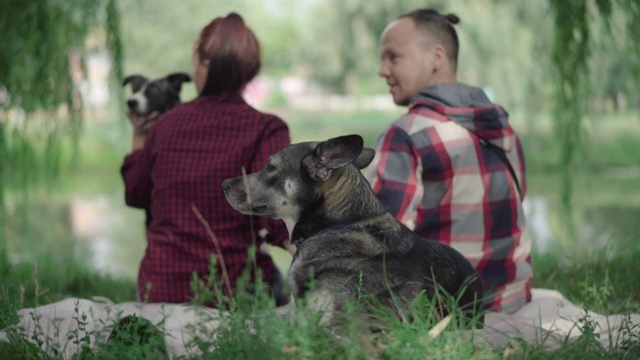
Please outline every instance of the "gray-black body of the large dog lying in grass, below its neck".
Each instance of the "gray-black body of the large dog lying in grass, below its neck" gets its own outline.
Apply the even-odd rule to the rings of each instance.
[[[421,292],[446,316],[460,307],[482,323],[483,287],[474,268],[457,251],[426,240],[388,213],[297,241],[289,277],[302,297],[315,282],[314,301],[334,310],[354,299],[406,310]],[[312,274],[310,276],[310,274]],[[328,295],[329,298],[323,298]]]

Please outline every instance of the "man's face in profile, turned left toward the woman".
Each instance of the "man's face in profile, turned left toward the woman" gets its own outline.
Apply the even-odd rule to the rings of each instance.
[[[426,48],[413,20],[402,18],[382,33],[378,75],[387,80],[393,102],[406,106],[409,100],[433,85],[433,47]]]

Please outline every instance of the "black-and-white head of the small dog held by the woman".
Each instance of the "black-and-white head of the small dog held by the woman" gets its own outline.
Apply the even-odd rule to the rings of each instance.
[[[134,115],[134,126],[149,127],[158,115],[180,103],[182,83],[191,81],[185,73],[169,74],[150,80],[142,75],[124,78],[122,86],[131,84],[132,93],[127,99],[127,108]]]

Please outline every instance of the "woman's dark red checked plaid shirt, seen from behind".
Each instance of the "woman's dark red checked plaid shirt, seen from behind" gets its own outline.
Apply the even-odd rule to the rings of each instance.
[[[142,299],[188,302],[193,298],[192,274],[209,274],[216,247],[191,204],[211,226],[234,288],[252,238],[258,247],[264,241],[280,245],[288,238],[282,221],[263,217],[253,219],[252,232],[250,218],[229,205],[221,183],[242,175],[243,167],[247,173],[260,170],[289,143],[281,119],[258,112],[240,96],[227,102],[199,97],[158,119],[144,148],[126,156],[121,168],[126,203],[149,208],[153,219],[138,274]],[[263,228],[268,231],[264,238],[258,235],[264,235]],[[256,263],[263,280],[273,284],[277,270],[269,255],[258,251]],[[220,261],[216,273],[220,279]]]

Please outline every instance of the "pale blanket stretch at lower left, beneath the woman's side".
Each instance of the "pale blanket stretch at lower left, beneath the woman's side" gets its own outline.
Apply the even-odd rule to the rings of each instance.
[[[113,324],[127,315],[137,315],[152,324],[163,323],[165,343],[171,357],[197,353],[192,340],[201,334],[213,334],[220,325],[216,309],[177,304],[113,303],[106,298],[91,300],[69,298],[53,304],[18,311],[20,321],[0,331],[0,341],[17,331],[25,340],[48,354],[62,353],[70,359],[82,341],[94,347],[104,343]],[[72,334],[72,338],[69,338]],[[35,335],[35,336],[34,336]]]

